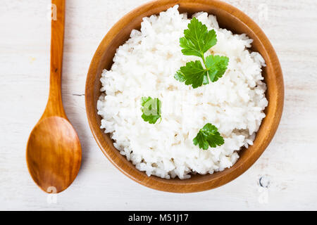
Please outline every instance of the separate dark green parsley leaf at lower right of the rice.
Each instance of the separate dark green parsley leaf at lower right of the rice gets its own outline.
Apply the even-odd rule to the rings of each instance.
[[[197,134],[197,136],[192,140],[195,146],[199,146],[204,150],[207,150],[209,146],[211,148],[216,148],[216,146],[221,146],[225,141],[223,137],[220,136],[217,127],[213,124],[205,124]]]

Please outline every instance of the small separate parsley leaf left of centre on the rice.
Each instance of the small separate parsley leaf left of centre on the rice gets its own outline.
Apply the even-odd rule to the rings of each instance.
[[[142,97],[142,119],[149,124],[155,124],[161,118],[161,101],[159,98]]]

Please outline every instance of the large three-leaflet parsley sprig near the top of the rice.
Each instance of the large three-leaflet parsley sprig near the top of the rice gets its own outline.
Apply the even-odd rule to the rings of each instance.
[[[185,56],[198,56],[201,61],[191,61],[182,66],[174,76],[180,82],[186,85],[191,84],[195,89],[202,84],[216,82],[223,76],[227,70],[229,58],[225,56],[207,56],[204,53],[217,43],[217,35],[215,30],[207,29],[197,18],[192,18],[188,24],[188,29],[184,30],[184,37],[180,38],[180,46]],[[208,78],[209,77],[209,78]]]

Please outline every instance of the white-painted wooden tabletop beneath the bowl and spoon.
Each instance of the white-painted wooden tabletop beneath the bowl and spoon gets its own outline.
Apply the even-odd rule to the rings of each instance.
[[[74,183],[48,197],[32,181],[25,146],[49,90],[50,1],[0,4],[0,210],[317,210],[317,1],[230,0],[266,32],[280,58],[285,108],[261,158],[211,191],[163,193],[141,186],[99,150],[85,113],[85,79],[106,32],[145,0],[68,0],[63,102],[80,136]],[[263,186],[259,179],[263,177]],[[266,184],[265,184],[266,183]]]

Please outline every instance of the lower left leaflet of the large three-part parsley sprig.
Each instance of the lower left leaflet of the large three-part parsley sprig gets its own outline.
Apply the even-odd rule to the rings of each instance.
[[[207,70],[205,70],[199,60],[191,61],[182,66],[175,74],[175,79],[185,82],[186,85],[192,84],[195,89],[201,84],[208,84]]]

